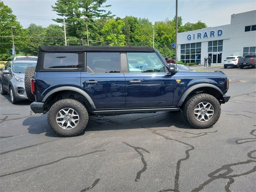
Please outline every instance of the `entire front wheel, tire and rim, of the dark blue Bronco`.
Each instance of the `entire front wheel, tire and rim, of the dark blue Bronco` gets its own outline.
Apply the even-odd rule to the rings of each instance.
[[[210,94],[197,94],[184,105],[183,116],[194,128],[209,128],[220,118],[220,103]]]

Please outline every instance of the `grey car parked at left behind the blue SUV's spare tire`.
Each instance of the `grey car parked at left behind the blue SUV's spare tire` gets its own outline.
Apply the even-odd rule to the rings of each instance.
[[[25,92],[25,72],[29,66],[36,66],[36,61],[8,61],[0,73],[0,92],[10,92],[11,102],[28,99]]]

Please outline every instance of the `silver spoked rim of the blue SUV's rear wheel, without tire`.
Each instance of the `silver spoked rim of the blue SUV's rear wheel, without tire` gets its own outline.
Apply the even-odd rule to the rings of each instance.
[[[72,108],[64,108],[57,113],[56,122],[62,129],[73,129],[79,122],[79,115]]]

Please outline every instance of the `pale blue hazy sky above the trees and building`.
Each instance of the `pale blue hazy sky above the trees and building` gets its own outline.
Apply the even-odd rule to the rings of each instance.
[[[13,13],[18,16],[18,21],[25,28],[30,23],[44,27],[57,24],[50,20],[58,17],[51,8],[56,0],[2,1],[12,8]],[[166,18],[172,19],[175,15],[175,2],[176,0],[107,0],[106,4],[111,4],[108,10],[121,18],[126,15],[136,16],[148,18],[154,23]],[[198,20],[211,27],[230,24],[231,14],[255,9],[256,0],[178,0],[178,16],[182,16],[183,24]],[[40,20],[31,16],[40,17]]]

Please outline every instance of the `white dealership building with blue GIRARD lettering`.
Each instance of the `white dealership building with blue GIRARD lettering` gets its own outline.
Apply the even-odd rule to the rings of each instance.
[[[256,53],[256,10],[232,14],[228,25],[207,27],[178,33],[178,60],[204,63],[211,56],[212,64],[224,64],[231,55]]]

